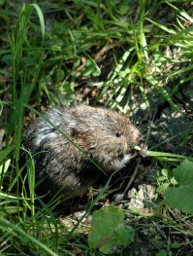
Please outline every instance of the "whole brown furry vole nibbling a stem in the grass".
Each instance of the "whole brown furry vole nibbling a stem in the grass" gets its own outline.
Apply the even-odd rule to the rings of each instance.
[[[142,139],[129,119],[105,108],[56,107],[45,117],[107,173],[127,165]],[[24,132],[23,145],[34,156],[36,173],[46,177],[51,194],[61,191],[66,197],[82,196],[101,170],[56,128],[36,119]]]

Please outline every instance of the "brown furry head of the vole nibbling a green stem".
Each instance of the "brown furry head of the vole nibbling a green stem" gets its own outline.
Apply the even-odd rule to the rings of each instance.
[[[124,167],[136,154],[142,134],[129,119],[116,112],[92,107],[74,109],[75,142],[105,170]]]

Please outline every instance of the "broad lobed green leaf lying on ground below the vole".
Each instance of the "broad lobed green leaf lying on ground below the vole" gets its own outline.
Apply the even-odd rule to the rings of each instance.
[[[127,246],[134,240],[135,231],[123,223],[124,211],[109,206],[95,211],[92,217],[92,231],[88,236],[91,248],[103,253],[113,253],[120,246]]]

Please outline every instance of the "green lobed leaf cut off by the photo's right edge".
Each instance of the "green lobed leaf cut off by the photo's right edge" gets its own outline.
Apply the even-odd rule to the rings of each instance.
[[[193,213],[193,162],[184,160],[174,170],[176,188],[169,188],[165,193],[167,203],[185,213]]]

